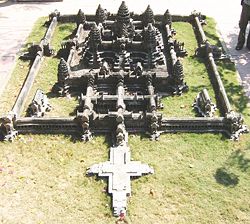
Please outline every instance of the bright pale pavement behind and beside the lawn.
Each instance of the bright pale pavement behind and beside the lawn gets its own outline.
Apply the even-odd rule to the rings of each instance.
[[[40,16],[48,16],[55,9],[63,14],[77,13],[81,8],[88,14],[94,14],[99,3],[111,12],[116,12],[120,1],[82,1],[64,0],[55,3],[14,3],[0,0],[0,95],[3,92],[18,57],[20,48],[30,33],[33,24]],[[150,4],[154,13],[164,13],[169,9],[172,14],[189,15],[196,10],[215,18],[218,29],[232,60],[235,61],[242,85],[250,99],[250,50],[236,51],[238,21],[241,13],[240,0],[127,0],[130,11],[141,13]]]

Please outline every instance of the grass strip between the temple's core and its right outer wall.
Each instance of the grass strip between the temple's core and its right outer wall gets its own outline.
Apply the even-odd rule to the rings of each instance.
[[[195,56],[197,41],[191,24],[176,22],[174,23],[174,28],[177,31],[175,38],[185,43],[185,48],[188,52],[188,56],[182,60],[182,63],[189,91],[181,96],[164,98],[163,103],[165,108],[163,109],[163,113],[169,117],[194,117],[196,116],[196,112],[193,110],[192,104],[198,92],[206,88],[214,103],[215,94],[204,64],[205,61]]]

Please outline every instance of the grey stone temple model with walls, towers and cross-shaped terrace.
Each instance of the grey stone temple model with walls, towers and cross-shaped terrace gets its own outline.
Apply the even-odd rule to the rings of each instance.
[[[206,89],[194,102],[199,117],[164,117],[159,109],[161,98],[185,94],[181,58],[187,55],[184,43],[174,39],[173,21],[191,23],[198,42],[197,57],[206,59],[216,103],[221,111],[215,117],[215,104]],[[57,82],[53,91],[58,96],[79,96],[75,116],[44,116],[53,105],[42,90],[38,90],[26,117],[21,117],[27,95],[39,71],[42,58],[54,54],[51,38],[58,23],[75,22],[73,38],[62,42]],[[147,164],[131,161],[129,133],[146,133],[159,140],[162,133],[222,132],[233,140],[248,132],[243,117],[231,109],[215,63],[223,58],[203,31],[204,16],[154,15],[150,6],[141,15],[129,12],[123,1],[116,14],[100,5],[95,15],[49,15],[48,30],[40,44],[33,45],[23,57],[33,60],[31,69],[17,100],[6,116],[0,119],[3,140],[14,140],[18,133],[77,134],[89,141],[93,133],[111,133],[109,161],[89,167],[87,175],[108,177],[108,193],[112,195],[115,216],[127,210],[131,195],[131,177],[153,174]],[[216,57],[215,57],[216,56]]]

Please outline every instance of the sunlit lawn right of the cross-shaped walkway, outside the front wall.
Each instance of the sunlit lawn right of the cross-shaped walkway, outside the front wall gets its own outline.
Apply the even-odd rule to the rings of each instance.
[[[247,223],[250,153],[249,150],[241,152],[247,149],[241,147],[237,151],[237,143],[221,137],[165,135],[160,142],[148,141],[145,145],[138,138],[130,139],[134,159],[149,162],[155,168],[153,176],[133,182],[135,197],[131,199],[130,209],[134,222],[140,223],[147,212],[151,221],[142,223],[152,220],[157,220],[155,223]],[[240,164],[244,164],[244,169]],[[221,169],[225,170],[222,177]],[[237,176],[238,182],[230,179],[226,182],[225,175]],[[150,188],[155,191],[153,197]]]

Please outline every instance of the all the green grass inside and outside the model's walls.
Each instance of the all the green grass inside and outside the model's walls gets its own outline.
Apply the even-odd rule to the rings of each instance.
[[[204,29],[217,43],[212,24]],[[191,26],[173,26],[189,52],[183,63],[190,91],[165,98],[164,113],[194,116],[191,104],[197,92],[208,88],[215,102],[214,92],[203,61],[193,56],[197,43]],[[72,29],[72,24],[58,27],[52,42],[56,50]],[[50,93],[56,81],[57,63],[57,58],[45,58],[33,93],[38,87]],[[250,126],[250,109],[237,83],[234,66],[220,62],[218,68],[232,106],[243,113]],[[10,81],[12,89],[7,88],[0,99],[4,106],[1,112],[11,108],[25,69],[28,70],[28,63],[18,61]],[[75,99],[67,98],[52,97],[50,101],[54,108],[51,114],[55,116],[59,112],[70,114],[77,104]],[[181,109],[181,105],[186,107]],[[107,181],[85,176],[87,167],[108,159],[109,145],[109,136],[95,136],[92,142],[82,143],[64,135],[19,135],[13,143],[0,142],[0,222],[114,223],[111,199],[103,192]],[[239,142],[222,134],[165,134],[158,142],[130,135],[129,145],[134,160],[155,169],[154,175],[132,181],[128,202],[131,223],[250,223],[249,134],[241,136]]]

